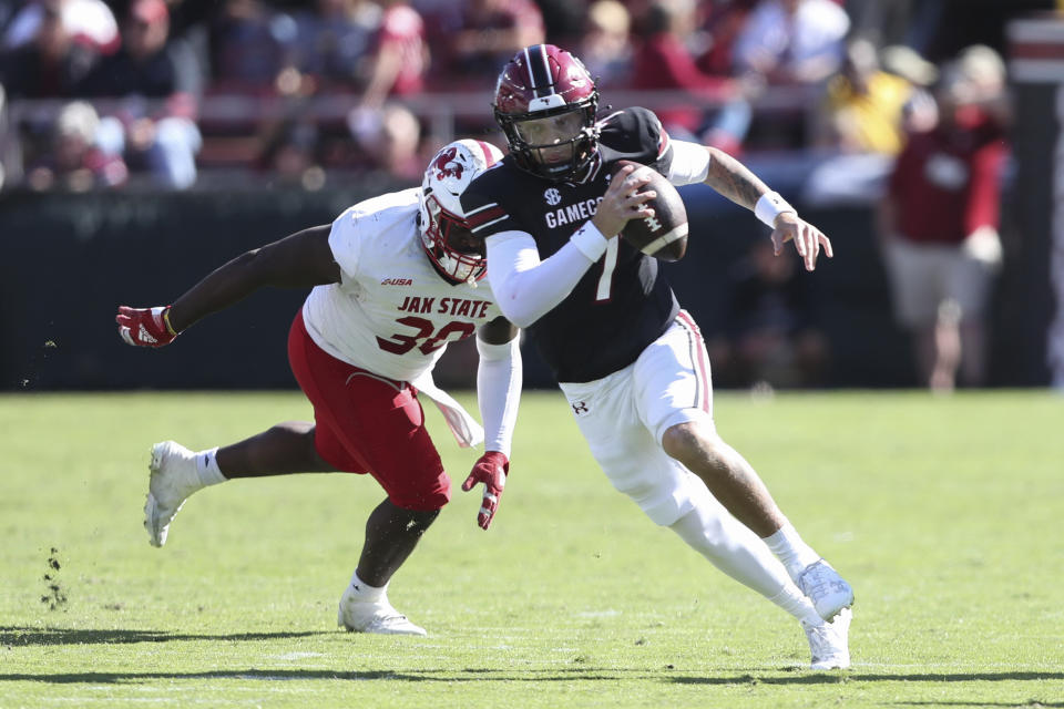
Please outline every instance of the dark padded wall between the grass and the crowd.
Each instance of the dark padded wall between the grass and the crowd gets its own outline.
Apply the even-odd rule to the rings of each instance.
[[[665,269],[681,302],[709,337],[720,327],[728,265],[766,230],[707,187],[686,187],[684,194],[692,240],[687,257]],[[190,329],[177,346],[154,351],[121,342],[115,309],[119,304],[164,305],[237,254],[328,223],[364,196],[369,195],[354,189],[6,196],[0,202],[0,388],[294,387],[285,342],[304,291],[256,294]],[[811,276],[833,350],[829,386],[915,386],[907,338],[890,317],[871,210],[802,213],[831,236],[837,251]],[[1042,304],[1045,254],[1039,253],[1045,248],[1029,242],[1011,255],[996,309],[994,384],[1046,381],[1036,351],[1044,347],[1048,317]],[[552,386],[532,351],[525,360],[528,386]],[[459,363],[448,369],[448,361]],[[473,381],[468,347],[448,352],[442,364],[441,382]]]

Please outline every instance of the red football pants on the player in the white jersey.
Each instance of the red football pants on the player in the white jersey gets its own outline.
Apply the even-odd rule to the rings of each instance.
[[[396,506],[447,504],[451,480],[424,428],[417,389],[325,352],[307,333],[301,310],[288,333],[288,362],[314,404],[314,442],[325,462],[369,473]]]

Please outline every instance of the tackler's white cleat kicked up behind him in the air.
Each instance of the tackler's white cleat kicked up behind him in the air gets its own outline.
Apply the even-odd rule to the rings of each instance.
[[[152,546],[166,543],[170,523],[192,493],[203,487],[196,473],[196,454],[180,443],[163,441],[152,446],[144,528]]]

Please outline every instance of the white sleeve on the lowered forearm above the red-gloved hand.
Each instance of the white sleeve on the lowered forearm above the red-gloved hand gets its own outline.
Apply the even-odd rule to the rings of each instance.
[[[484,422],[484,450],[509,459],[521,401],[521,336],[505,345],[489,345],[478,337],[477,351],[477,401]]]

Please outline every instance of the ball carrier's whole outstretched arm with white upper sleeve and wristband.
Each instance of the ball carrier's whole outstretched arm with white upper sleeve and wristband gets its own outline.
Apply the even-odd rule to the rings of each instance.
[[[704,182],[732,202],[751,209],[758,219],[773,227],[773,248],[777,256],[787,242],[795,243],[806,270],[817,267],[821,248],[828,258],[835,256],[831,240],[799,217],[794,207],[739,161],[719,148],[696,143],[672,141],[669,147],[669,181],[681,185]]]

